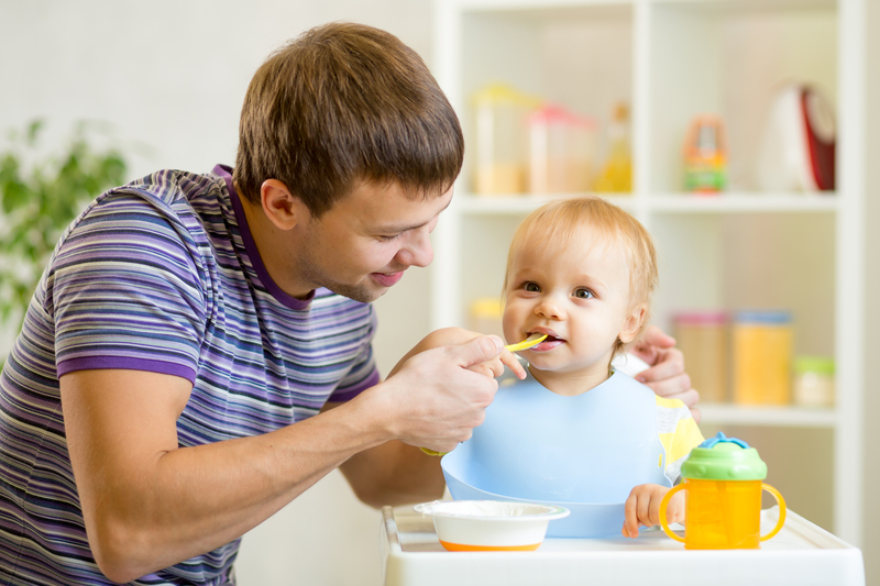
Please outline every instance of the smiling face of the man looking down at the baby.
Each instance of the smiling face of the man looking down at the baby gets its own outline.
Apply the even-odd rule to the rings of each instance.
[[[302,244],[293,251],[296,278],[356,301],[376,300],[404,270],[431,263],[429,235],[451,199],[451,188],[413,199],[394,184],[361,184],[308,220]]]

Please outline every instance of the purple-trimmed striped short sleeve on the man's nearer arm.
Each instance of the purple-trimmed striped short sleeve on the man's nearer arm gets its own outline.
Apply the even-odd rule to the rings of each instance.
[[[195,382],[206,322],[197,250],[164,201],[131,191],[99,199],[46,277],[58,376],[129,368]]]

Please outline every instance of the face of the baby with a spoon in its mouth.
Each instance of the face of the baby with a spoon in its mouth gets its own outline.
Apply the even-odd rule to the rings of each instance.
[[[629,342],[638,332],[626,256],[619,246],[593,240],[526,243],[510,264],[505,291],[505,338],[548,334],[520,354],[540,383],[562,395],[605,380],[617,338]]]

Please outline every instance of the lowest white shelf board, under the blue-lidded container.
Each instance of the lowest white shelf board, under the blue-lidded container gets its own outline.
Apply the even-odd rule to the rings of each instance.
[[[834,409],[743,407],[719,403],[701,403],[698,407],[703,414],[703,423],[829,429],[837,423],[837,412]]]

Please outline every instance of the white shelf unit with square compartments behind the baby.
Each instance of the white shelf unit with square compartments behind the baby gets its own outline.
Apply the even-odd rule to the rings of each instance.
[[[777,485],[799,472],[781,462],[791,460],[790,453],[773,456],[774,445],[768,443],[781,445],[794,434],[798,441],[813,438],[805,450],[825,445],[815,472],[828,483],[825,526],[855,544],[862,533],[865,2],[435,3],[433,71],[461,117],[471,150],[469,100],[492,81],[600,121],[607,121],[616,101],[630,104],[634,190],[610,199],[658,241],[654,323],[669,331],[676,309],[787,308],[795,316],[795,353],[835,357],[834,409],[706,405],[703,422],[759,428],[761,454],[780,458],[769,462]],[[773,92],[787,79],[818,84],[835,108],[834,192],[756,187],[754,153]],[[719,113],[728,134],[729,189],[717,197],[680,191],[684,132],[703,112]],[[601,162],[602,148],[600,155]],[[474,196],[471,185],[466,155],[457,196],[435,233],[435,328],[466,325],[471,301],[499,295],[513,230],[552,197]],[[794,483],[791,493],[799,489]],[[798,510],[807,512],[803,506]]]

